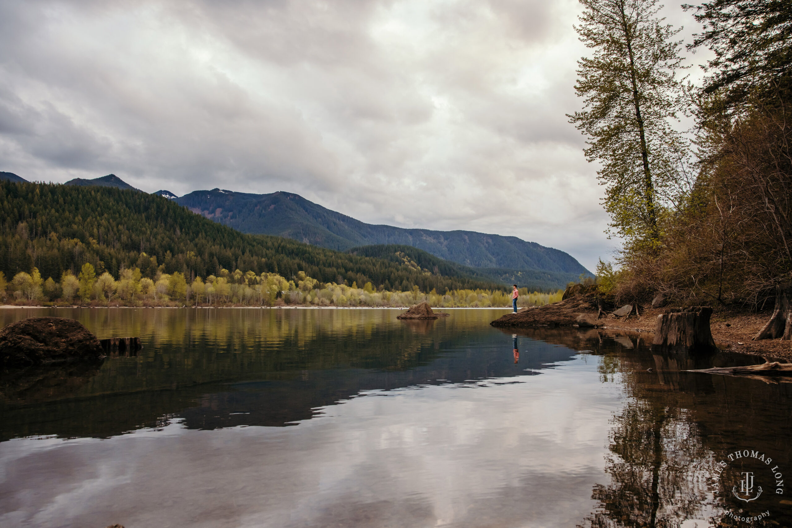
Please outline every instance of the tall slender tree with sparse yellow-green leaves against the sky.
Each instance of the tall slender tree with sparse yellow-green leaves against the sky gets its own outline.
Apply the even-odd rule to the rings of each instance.
[[[687,142],[672,127],[686,111],[680,29],[657,17],[656,0],[581,0],[575,27],[592,57],[578,61],[575,90],[584,109],[569,116],[600,161],[609,234],[628,245],[656,243],[664,207],[687,187]]]

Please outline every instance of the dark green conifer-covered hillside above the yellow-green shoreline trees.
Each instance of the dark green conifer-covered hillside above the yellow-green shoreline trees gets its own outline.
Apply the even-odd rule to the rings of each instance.
[[[233,272],[305,272],[322,282],[421,291],[502,289],[466,276],[444,276],[386,260],[340,253],[282,237],[242,234],[195,215],[173,200],[111,187],[0,181],[0,271],[10,278],[38,268],[42,277],[78,272],[118,276],[140,268],[208,276]]]

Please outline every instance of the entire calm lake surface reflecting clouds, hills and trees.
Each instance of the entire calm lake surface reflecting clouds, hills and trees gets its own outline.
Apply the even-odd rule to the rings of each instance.
[[[397,313],[0,310],[144,344],[2,375],[0,526],[792,526],[792,383],[680,372],[756,358]]]

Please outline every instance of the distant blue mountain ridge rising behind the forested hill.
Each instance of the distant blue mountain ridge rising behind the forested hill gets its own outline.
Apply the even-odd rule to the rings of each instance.
[[[274,234],[330,249],[410,245],[472,268],[542,270],[576,278],[581,273],[591,275],[568,253],[517,237],[367,224],[290,192],[260,195],[215,188],[175,201],[243,233]]]

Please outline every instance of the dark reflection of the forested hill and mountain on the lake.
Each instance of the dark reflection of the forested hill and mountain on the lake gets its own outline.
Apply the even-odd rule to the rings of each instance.
[[[284,426],[365,390],[527,374],[500,353],[498,332],[478,332],[492,312],[397,321],[398,310],[58,310],[100,336],[137,333],[143,350],[60,376],[59,391],[0,388],[0,439],[106,438],[174,416],[189,428]],[[570,355],[539,344],[524,368]]]

